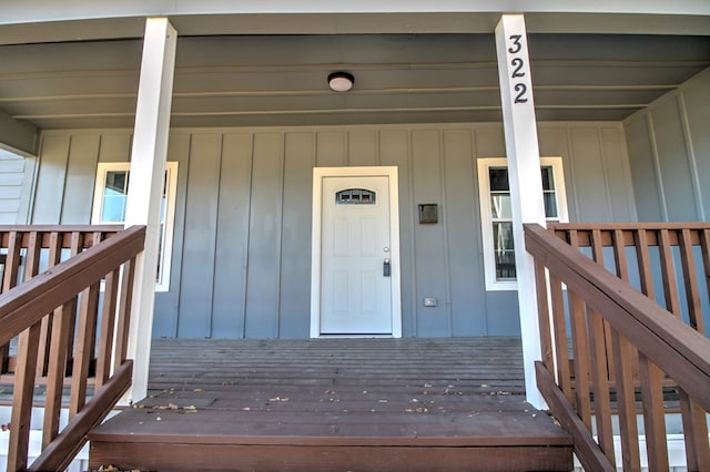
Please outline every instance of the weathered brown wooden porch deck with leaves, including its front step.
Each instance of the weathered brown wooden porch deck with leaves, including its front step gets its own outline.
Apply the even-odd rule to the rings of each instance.
[[[523,391],[516,338],[156,340],[149,398],[90,434],[90,463],[571,470]]]

